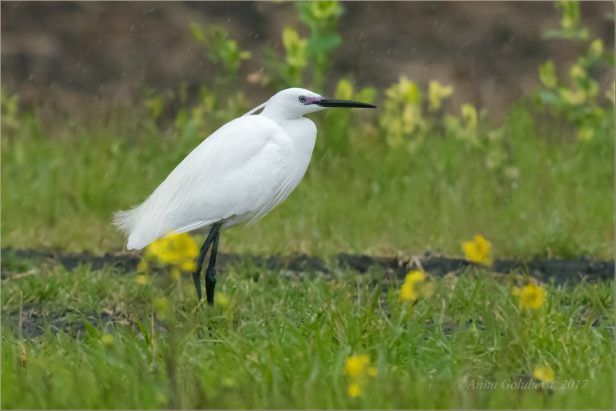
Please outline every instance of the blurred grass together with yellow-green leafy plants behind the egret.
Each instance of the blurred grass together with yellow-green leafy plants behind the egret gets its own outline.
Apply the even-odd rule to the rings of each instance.
[[[295,7],[302,21],[328,21],[314,23],[327,30],[341,10],[333,3]],[[232,44],[214,32],[218,40],[208,44]],[[304,50],[296,53],[307,55],[309,40],[286,33]],[[312,114],[317,143],[296,193],[246,228],[245,240],[227,237],[221,249],[456,254],[461,241],[482,233],[496,257],[612,255],[614,83],[604,90],[593,73],[614,58],[598,40],[583,44],[568,81],[553,62],[542,65],[542,86],[514,103],[498,127],[484,108],[454,107],[448,84],[402,76],[377,92],[339,79],[334,97],[375,102],[378,110]],[[298,57],[285,66],[312,60]],[[235,76],[237,65],[229,67]],[[144,113],[118,113],[100,128],[59,126],[53,134],[36,114],[20,110],[17,96],[2,92],[2,211],[13,217],[2,220],[2,241],[120,248],[111,212],[139,204],[198,143],[251,108],[225,81],[201,86],[192,97],[185,82],[174,92],[150,90]]]

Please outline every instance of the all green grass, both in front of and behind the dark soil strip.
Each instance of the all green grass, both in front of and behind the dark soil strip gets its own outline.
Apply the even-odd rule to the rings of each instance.
[[[298,188],[256,224],[225,231],[219,249],[461,255],[463,241],[483,234],[494,258],[614,258],[606,111],[611,135],[590,142],[519,104],[503,140],[436,133],[412,153],[387,146],[360,111],[316,116],[317,148]],[[178,132],[128,117],[98,127],[59,119],[47,130],[32,116],[3,115],[2,246],[121,250],[111,213],[139,204],[234,114]],[[495,157],[501,164],[488,168]],[[10,252],[2,266],[3,409],[615,405],[614,281],[547,285],[546,303],[530,313],[511,295],[528,282],[515,275],[435,279],[434,295],[413,306],[400,301],[400,282],[376,271],[288,277],[244,262],[219,273],[229,305],[202,308],[192,281],[164,273],[139,284],[136,273],[68,272]],[[24,335],[20,322],[36,333]],[[354,399],[344,362],[357,354],[378,375]],[[543,365],[554,390],[503,388]],[[461,380],[496,388],[460,389]],[[571,380],[588,381],[561,389]]]

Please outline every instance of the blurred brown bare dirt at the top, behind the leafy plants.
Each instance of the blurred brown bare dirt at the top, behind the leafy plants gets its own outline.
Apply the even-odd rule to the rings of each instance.
[[[2,86],[50,122],[59,114],[86,121],[92,111],[142,106],[146,89],[172,93],[180,81],[196,95],[218,70],[192,39],[190,22],[218,23],[253,52],[238,88],[261,103],[272,90],[248,81],[262,68],[263,47],[282,54],[284,26],[308,36],[292,2],[17,2],[2,1]],[[581,2],[591,38],[614,47],[612,2]],[[471,102],[495,121],[538,84],[549,58],[565,76],[579,50],[543,40],[559,26],[553,2],[344,2],[342,46],[326,91],[341,78],[384,90],[401,75],[425,86],[453,84],[450,108]],[[603,75],[614,78],[613,70]],[[298,85],[301,86],[301,85]]]

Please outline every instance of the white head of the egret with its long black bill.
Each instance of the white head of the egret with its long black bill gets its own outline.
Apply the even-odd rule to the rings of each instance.
[[[325,98],[306,89],[293,87],[279,91],[272,96],[263,109],[264,116],[277,119],[296,119],[313,111],[326,107],[363,107],[375,108],[368,103],[352,102],[351,100],[333,100]]]

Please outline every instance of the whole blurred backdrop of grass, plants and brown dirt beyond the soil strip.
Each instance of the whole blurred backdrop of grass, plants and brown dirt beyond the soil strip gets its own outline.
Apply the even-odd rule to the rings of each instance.
[[[311,116],[304,181],[222,250],[614,254],[613,3],[1,7],[3,246],[121,249],[111,212],[301,86],[379,108]]]

